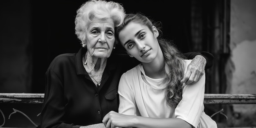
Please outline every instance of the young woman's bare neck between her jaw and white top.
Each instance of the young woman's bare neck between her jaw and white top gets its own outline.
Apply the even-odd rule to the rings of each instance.
[[[145,74],[153,79],[164,78],[164,55],[159,47],[158,54],[150,63],[142,63]]]

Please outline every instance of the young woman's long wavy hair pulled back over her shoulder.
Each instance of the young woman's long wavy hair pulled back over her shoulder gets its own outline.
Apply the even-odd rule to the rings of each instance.
[[[120,42],[118,38],[120,31],[124,29],[124,27],[126,27],[129,22],[136,22],[141,25],[146,25],[152,32],[153,26],[158,27],[158,25],[153,25],[153,20],[149,20],[141,13],[126,14],[122,25],[117,27],[115,30],[115,37],[117,42]],[[172,41],[159,37],[157,38],[157,40],[160,48],[162,49],[165,59],[165,65],[162,68],[162,71],[165,72],[163,84],[167,84],[165,92],[166,102],[168,106],[176,107],[182,99],[183,86],[181,85],[180,81],[182,80],[184,75],[183,60],[185,59],[185,57],[177,50]]]

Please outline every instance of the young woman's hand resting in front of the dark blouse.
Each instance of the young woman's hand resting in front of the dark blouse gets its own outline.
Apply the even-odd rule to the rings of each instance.
[[[127,128],[132,126],[134,116],[123,115],[115,111],[110,111],[103,118],[102,122],[107,128]]]

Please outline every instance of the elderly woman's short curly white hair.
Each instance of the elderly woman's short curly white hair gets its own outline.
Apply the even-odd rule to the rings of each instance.
[[[86,39],[86,28],[92,20],[111,19],[115,27],[118,27],[125,17],[124,7],[121,4],[105,0],[89,0],[83,3],[76,13],[75,34],[81,42]]]

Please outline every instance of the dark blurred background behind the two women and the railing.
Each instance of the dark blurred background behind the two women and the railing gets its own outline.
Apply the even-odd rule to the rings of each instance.
[[[256,94],[256,0],[113,0],[126,13],[141,12],[162,22],[164,38],[181,52],[213,54],[205,93]],[[44,93],[53,58],[78,52],[76,10],[86,0],[0,2],[0,93]],[[19,108],[39,124],[41,105],[0,104],[5,116]],[[205,105],[218,127],[256,126],[256,105]],[[17,120],[16,120],[17,119]],[[2,124],[0,117],[0,125]],[[5,127],[34,127],[16,115]]]

